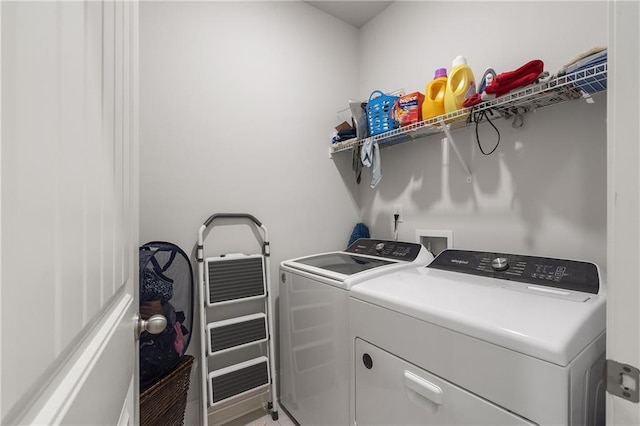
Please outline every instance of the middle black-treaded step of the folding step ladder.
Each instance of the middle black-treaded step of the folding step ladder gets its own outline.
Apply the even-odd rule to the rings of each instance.
[[[207,324],[209,356],[267,341],[267,316],[246,315]]]

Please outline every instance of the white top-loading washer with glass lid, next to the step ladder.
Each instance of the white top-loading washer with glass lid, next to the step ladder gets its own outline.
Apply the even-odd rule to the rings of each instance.
[[[427,265],[421,244],[361,238],[280,265],[280,405],[301,425],[349,423],[349,290]]]

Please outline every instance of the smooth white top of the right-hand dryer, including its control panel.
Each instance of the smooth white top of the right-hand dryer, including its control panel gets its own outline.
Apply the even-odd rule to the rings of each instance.
[[[428,267],[374,278],[354,287],[350,297],[561,366],[566,366],[605,331],[604,287],[595,284],[598,290],[594,292],[591,283],[584,287],[591,288],[590,292],[567,289],[562,288],[562,279],[560,283],[544,285],[545,281],[554,281],[555,275],[540,277],[535,272],[544,271],[538,266],[553,264],[557,268],[564,265],[559,267],[567,268],[567,279],[585,281],[593,277],[590,273],[582,274],[581,268],[591,265],[599,280],[595,265],[520,256],[531,263],[532,274],[536,276],[528,279],[521,273],[514,280],[513,277],[505,278],[508,277],[506,271],[518,271],[516,263],[509,265],[513,255],[456,252],[464,256],[451,256],[451,251],[445,250]],[[446,257],[447,262],[457,260],[453,262],[457,270],[443,266],[443,254],[442,259]],[[477,262],[465,266],[465,259],[471,256],[489,258],[490,268],[477,269]],[[497,259],[501,261],[494,262]],[[481,268],[484,266],[487,265],[480,265]],[[462,272],[465,267],[474,271]],[[521,269],[528,273],[527,268],[528,264]],[[568,286],[575,287],[576,284],[571,282]]]

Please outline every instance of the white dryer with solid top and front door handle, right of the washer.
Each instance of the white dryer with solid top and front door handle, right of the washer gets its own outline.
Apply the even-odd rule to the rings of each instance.
[[[596,265],[445,250],[350,292],[365,425],[604,425]]]

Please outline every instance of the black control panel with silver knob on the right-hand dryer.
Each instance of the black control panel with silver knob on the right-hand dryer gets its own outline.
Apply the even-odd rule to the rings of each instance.
[[[598,267],[576,260],[445,250],[427,267],[593,294],[600,289]]]

